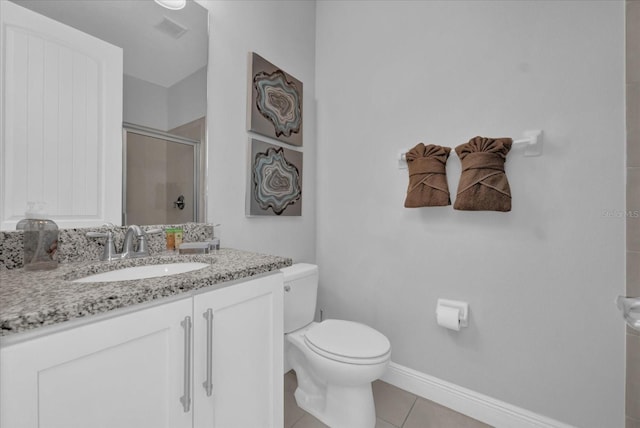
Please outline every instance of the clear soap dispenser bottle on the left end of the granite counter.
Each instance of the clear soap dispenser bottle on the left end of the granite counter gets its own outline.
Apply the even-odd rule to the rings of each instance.
[[[58,267],[58,226],[48,220],[44,212],[44,203],[29,203],[16,228],[23,232],[23,265],[25,270],[50,270]]]

